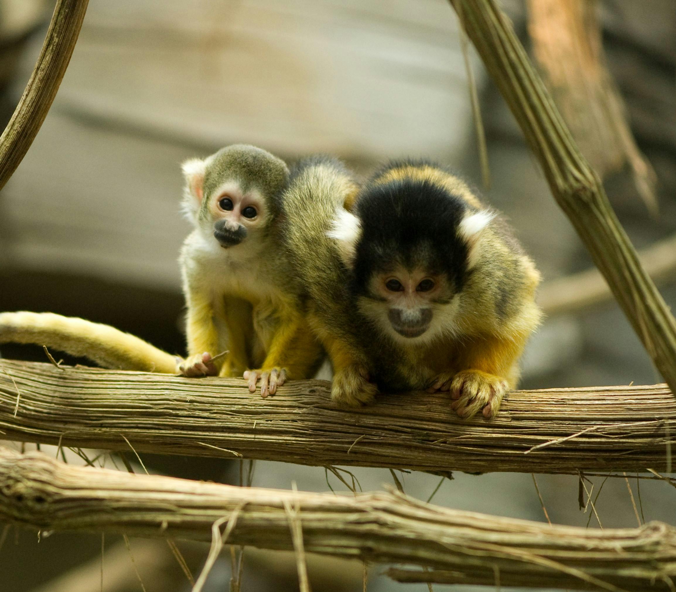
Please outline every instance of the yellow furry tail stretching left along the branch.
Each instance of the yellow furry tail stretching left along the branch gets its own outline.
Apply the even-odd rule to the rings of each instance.
[[[46,345],[103,368],[174,374],[176,357],[110,325],[51,312],[0,313],[0,343]]]

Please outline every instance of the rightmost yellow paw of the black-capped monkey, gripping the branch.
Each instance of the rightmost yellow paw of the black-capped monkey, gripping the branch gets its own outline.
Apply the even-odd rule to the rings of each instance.
[[[496,416],[500,403],[509,391],[504,378],[481,370],[458,372],[450,384],[451,408],[463,419],[474,417],[479,411],[485,418]]]

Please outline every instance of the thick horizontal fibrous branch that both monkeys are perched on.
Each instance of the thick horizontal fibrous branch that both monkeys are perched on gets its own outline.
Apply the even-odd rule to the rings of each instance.
[[[446,393],[343,410],[322,380],[262,399],[244,380],[0,360],[0,436],[64,446],[428,472],[660,471],[675,420],[665,385],[515,391],[497,418],[466,421]]]

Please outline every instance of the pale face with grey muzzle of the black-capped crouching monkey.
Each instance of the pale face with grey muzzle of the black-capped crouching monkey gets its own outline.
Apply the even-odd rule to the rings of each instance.
[[[435,337],[453,303],[445,274],[397,266],[371,276],[360,309],[395,341],[413,345]]]

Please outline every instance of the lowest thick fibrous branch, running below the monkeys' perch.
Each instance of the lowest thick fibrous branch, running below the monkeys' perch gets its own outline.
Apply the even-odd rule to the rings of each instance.
[[[0,448],[0,520],[43,531],[112,531],[304,549],[451,570],[467,583],[670,590],[676,531],[550,526],[448,510],[396,493],[304,493],[69,466]],[[218,532],[216,531],[218,528]],[[213,530],[212,530],[213,529]]]

